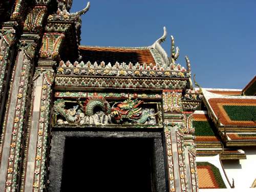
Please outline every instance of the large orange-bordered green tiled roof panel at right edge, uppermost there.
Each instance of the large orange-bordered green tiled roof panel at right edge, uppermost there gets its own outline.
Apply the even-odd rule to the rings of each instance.
[[[222,124],[256,126],[256,99],[210,98],[208,102]]]

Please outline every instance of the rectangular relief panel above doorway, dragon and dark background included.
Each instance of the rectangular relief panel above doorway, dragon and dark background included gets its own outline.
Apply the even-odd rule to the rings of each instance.
[[[145,102],[139,99],[119,99],[108,101],[99,95],[93,97],[56,99],[54,101],[53,125],[121,125],[161,127],[159,102]]]

